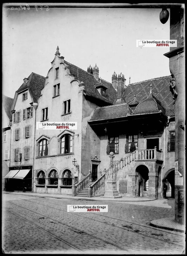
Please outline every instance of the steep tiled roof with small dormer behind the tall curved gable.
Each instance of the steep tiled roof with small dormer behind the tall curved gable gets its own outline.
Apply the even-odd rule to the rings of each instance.
[[[96,99],[100,99],[102,101],[105,101],[108,104],[113,104],[116,100],[116,91],[111,83],[99,79],[96,80],[93,74],[90,74],[84,70],[82,70],[79,67],[76,67],[75,65],[68,63],[67,61],[64,61],[66,65],[69,66],[69,71],[71,74],[75,74],[75,79],[79,80],[80,82],[84,82],[85,84],[85,94],[91,97],[94,97]],[[98,89],[95,88],[95,86],[98,86],[99,83],[101,85],[107,87],[106,90],[106,97],[101,96],[101,94],[98,92]]]

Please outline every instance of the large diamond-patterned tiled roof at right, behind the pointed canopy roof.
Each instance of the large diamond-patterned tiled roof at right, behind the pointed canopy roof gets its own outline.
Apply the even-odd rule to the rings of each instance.
[[[171,76],[165,76],[130,84],[125,89],[121,102],[116,102],[115,104],[123,102],[129,104],[130,101],[133,100],[134,95],[136,95],[136,100],[138,102],[145,100],[150,93],[150,85],[152,84],[152,93],[165,108],[166,115],[174,116],[175,105],[171,92],[169,91],[170,79]]]

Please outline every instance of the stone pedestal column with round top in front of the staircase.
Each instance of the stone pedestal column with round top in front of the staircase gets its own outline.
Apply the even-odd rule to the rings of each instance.
[[[104,194],[104,196],[101,196],[101,197],[121,198],[122,196],[119,196],[118,190],[116,189],[116,182],[113,178],[114,152],[109,153],[109,158],[111,160],[111,167],[109,170],[109,178],[107,180],[105,194]]]

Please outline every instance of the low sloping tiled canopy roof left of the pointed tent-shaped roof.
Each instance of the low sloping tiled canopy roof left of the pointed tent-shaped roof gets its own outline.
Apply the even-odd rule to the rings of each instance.
[[[92,118],[89,121],[125,117],[127,114],[130,113],[131,110],[126,103],[106,107],[97,107]]]

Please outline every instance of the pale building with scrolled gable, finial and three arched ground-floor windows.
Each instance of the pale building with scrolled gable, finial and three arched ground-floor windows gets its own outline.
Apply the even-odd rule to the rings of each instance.
[[[72,184],[89,174],[91,156],[100,156],[100,139],[88,120],[96,107],[113,104],[116,91],[99,78],[98,66],[86,72],[65,61],[58,47],[51,64],[38,99],[36,122],[76,122],[77,130],[71,126],[36,130],[34,191],[71,194]]]

